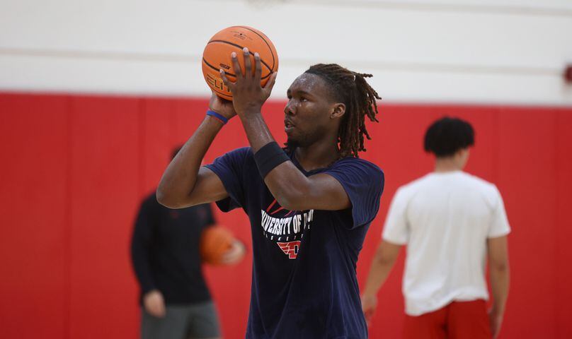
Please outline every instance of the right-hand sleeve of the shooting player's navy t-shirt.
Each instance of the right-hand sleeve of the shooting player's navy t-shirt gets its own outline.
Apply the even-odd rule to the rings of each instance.
[[[352,203],[353,225],[367,225],[379,210],[379,199],[384,188],[384,174],[379,167],[366,160],[348,158],[336,162],[325,174],[342,185]]]

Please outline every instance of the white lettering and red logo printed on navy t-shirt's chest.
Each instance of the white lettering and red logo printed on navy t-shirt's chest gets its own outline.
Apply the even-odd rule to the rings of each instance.
[[[314,210],[286,210],[274,200],[261,213],[261,227],[266,239],[276,242],[288,258],[297,258],[304,230],[310,229],[314,219]]]

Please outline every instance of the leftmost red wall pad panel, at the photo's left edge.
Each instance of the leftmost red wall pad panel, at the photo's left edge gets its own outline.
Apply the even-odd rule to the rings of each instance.
[[[0,95],[0,338],[69,326],[69,109]]]

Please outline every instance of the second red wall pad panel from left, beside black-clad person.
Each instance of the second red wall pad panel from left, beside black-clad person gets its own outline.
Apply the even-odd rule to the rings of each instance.
[[[139,202],[139,100],[71,97],[70,338],[128,338]]]

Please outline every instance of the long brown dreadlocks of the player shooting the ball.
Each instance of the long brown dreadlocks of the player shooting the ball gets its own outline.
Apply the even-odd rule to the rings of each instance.
[[[365,81],[365,78],[372,75],[350,71],[338,64],[316,64],[304,73],[323,78],[331,85],[333,97],[345,105],[345,114],[338,131],[340,157],[358,157],[358,152],[365,151],[365,138],[372,139],[365,128],[365,116],[370,121],[377,122],[375,100],[381,99]]]

